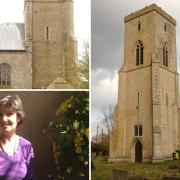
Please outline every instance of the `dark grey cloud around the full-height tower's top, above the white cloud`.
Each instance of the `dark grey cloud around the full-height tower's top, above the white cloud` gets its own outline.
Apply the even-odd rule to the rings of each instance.
[[[177,1],[176,1],[177,2]],[[124,52],[124,16],[156,3],[180,22],[178,4],[152,0],[92,0],[92,69],[119,69]],[[180,28],[177,27],[177,31]],[[179,33],[177,40],[180,40]],[[178,56],[179,57],[179,56]]]

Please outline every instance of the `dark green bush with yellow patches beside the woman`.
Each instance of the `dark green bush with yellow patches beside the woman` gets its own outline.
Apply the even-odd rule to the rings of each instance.
[[[55,170],[51,179],[88,179],[89,176],[89,97],[79,92],[57,109],[57,121],[46,133],[53,141]]]

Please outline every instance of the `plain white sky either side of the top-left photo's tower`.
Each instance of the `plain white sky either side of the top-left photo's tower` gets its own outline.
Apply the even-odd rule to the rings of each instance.
[[[24,0],[0,0],[0,23],[23,22],[23,10]],[[75,35],[82,51],[83,41],[90,39],[90,0],[74,0],[74,22]]]

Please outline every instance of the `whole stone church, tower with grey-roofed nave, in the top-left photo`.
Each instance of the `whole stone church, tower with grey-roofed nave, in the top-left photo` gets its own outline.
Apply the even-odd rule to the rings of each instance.
[[[24,24],[0,24],[0,89],[76,87],[72,0],[25,0]]]

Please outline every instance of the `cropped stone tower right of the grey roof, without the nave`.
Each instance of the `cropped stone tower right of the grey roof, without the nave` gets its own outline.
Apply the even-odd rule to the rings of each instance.
[[[72,0],[25,0],[24,10],[33,88],[48,88],[56,80],[62,82],[58,88],[72,88],[77,79]]]

